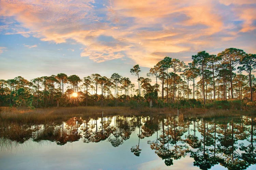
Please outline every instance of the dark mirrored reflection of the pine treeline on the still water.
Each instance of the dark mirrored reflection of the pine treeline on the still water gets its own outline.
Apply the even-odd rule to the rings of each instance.
[[[138,143],[130,148],[131,152],[142,156],[142,139],[148,138],[150,148],[166,166],[175,164],[175,160],[190,152],[194,166],[200,169],[210,169],[216,164],[228,169],[245,169],[256,164],[255,125],[255,118],[249,116],[85,116],[33,125],[0,121],[0,145],[2,150],[11,150],[10,147],[24,145],[26,141],[51,141],[65,145],[81,139],[94,145],[107,141],[113,147],[119,147],[126,140],[129,143],[130,137],[135,135]],[[136,130],[139,130],[137,135]]]

